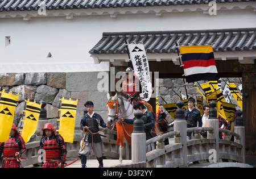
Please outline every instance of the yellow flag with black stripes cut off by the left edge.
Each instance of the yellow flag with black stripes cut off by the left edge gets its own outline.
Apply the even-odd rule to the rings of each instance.
[[[4,142],[9,139],[19,94],[5,93],[5,90],[0,93],[0,142]]]

